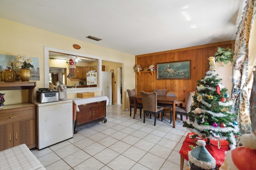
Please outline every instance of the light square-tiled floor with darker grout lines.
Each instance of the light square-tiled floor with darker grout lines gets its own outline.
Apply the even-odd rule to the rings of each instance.
[[[118,105],[106,106],[106,115],[106,123],[83,127],[71,139],[31,151],[47,170],[180,170],[179,150],[189,131],[179,115],[176,128],[169,114],[157,119],[156,126],[154,117],[143,123],[143,115],[133,119]]]

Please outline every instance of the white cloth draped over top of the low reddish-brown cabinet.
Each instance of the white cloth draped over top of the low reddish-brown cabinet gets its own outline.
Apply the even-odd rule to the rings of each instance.
[[[106,105],[108,105],[109,99],[107,96],[94,96],[92,98],[72,98],[73,102],[77,105],[76,111],[79,111],[78,106],[82,104],[100,102],[106,100]]]

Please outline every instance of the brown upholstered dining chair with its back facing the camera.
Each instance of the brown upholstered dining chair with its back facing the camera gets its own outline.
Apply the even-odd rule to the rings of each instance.
[[[140,91],[140,96],[142,99],[142,106],[143,106],[143,123],[145,123],[145,117],[146,113],[150,114],[150,119],[151,119],[151,114],[154,114],[155,120],[154,120],[154,126],[156,125],[156,115],[158,115],[159,118],[159,113],[161,113],[161,121],[163,121],[163,114],[164,114],[164,107],[162,106],[157,106],[157,94],[156,92],[143,92]]]

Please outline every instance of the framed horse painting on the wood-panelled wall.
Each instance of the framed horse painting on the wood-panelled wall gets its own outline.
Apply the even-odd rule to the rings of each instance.
[[[190,79],[190,62],[191,60],[157,63],[157,79]]]

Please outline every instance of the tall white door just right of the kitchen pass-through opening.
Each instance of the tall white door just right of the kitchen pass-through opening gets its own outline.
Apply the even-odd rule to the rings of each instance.
[[[112,73],[102,71],[102,96],[107,96],[109,104],[112,105]]]

